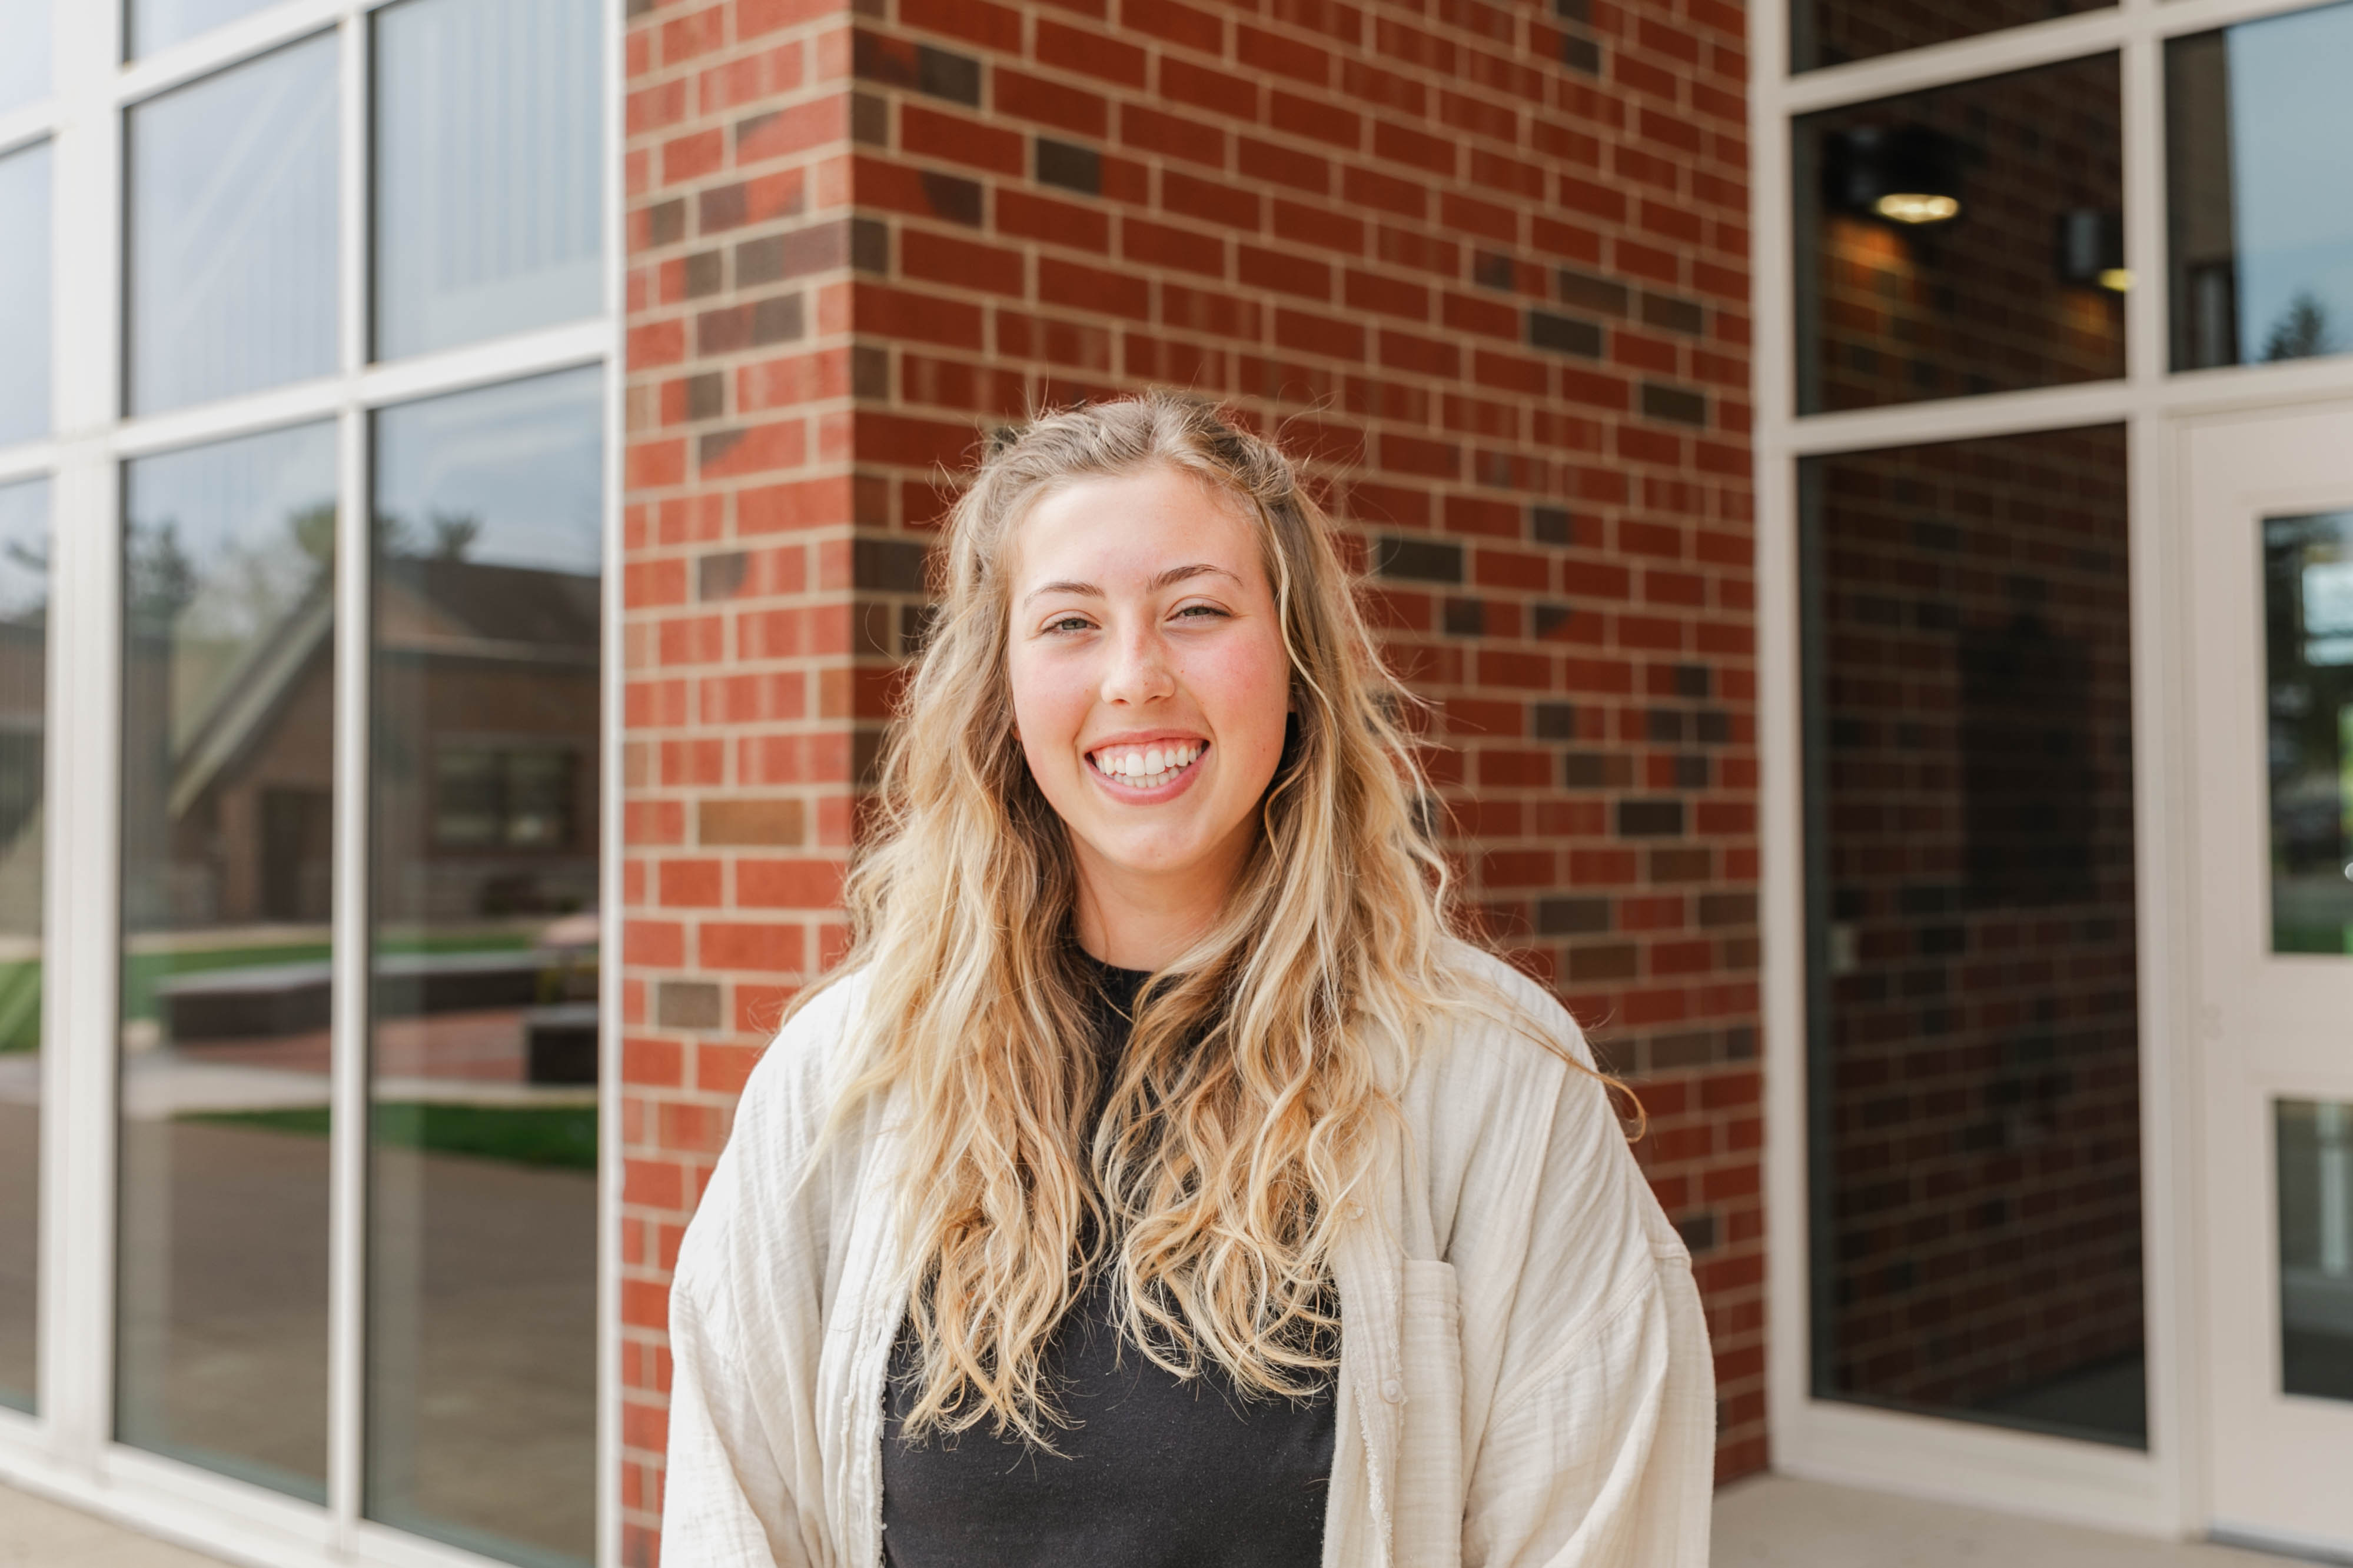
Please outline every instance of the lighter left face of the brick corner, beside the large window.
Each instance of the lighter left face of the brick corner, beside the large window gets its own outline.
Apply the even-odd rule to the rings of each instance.
[[[659,1559],[678,1237],[840,947],[854,778],[849,16],[631,5],[624,1561]]]

